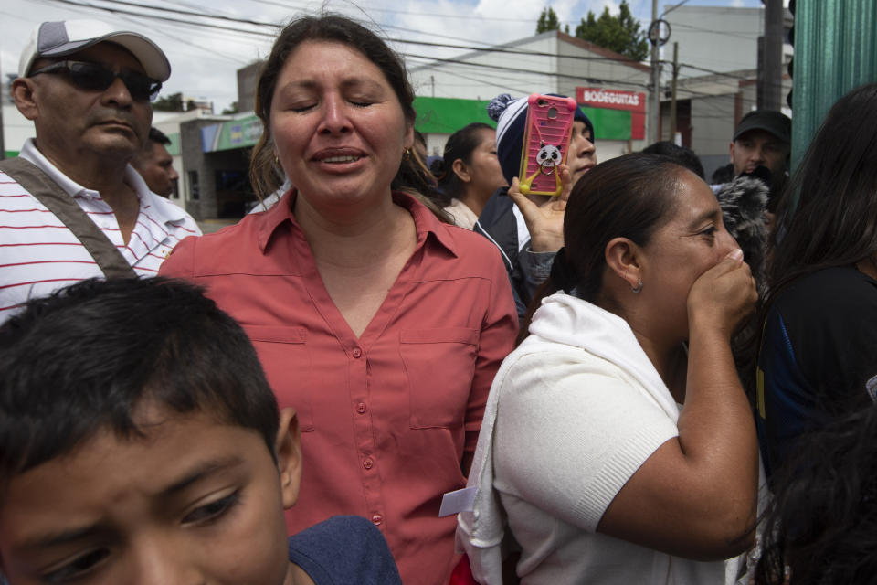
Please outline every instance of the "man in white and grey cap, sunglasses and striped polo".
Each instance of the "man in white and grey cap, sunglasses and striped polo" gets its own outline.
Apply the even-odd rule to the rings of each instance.
[[[0,163],[0,322],[71,282],[153,276],[176,242],[200,233],[129,165],[170,74],[138,33],[95,20],[34,31],[12,96],[36,138]]]

